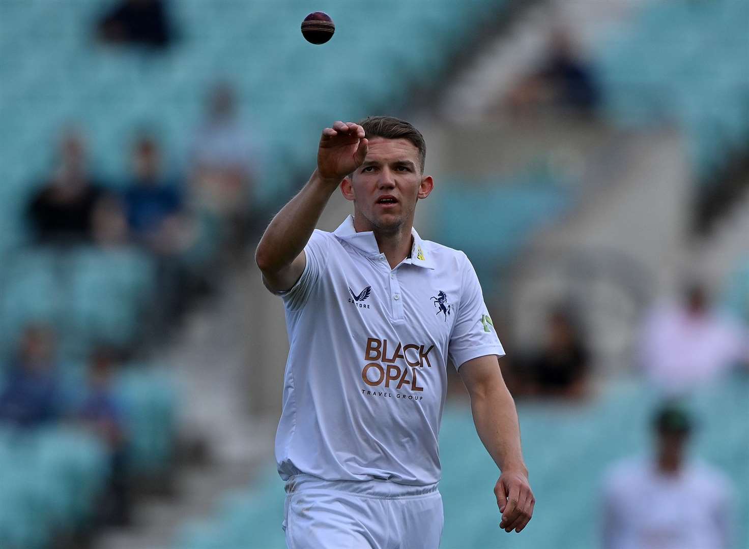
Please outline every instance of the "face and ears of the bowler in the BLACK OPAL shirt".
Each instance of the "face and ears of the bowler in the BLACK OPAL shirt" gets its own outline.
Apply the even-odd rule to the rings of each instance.
[[[341,189],[354,201],[354,219],[360,227],[395,233],[404,224],[413,224],[416,200],[426,198],[433,186],[431,177],[422,176],[414,144],[407,139],[372,138],[363,164]]]

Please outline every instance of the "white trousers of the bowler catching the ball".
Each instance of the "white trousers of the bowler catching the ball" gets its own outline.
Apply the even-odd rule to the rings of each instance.
[[[444,515],[437,485],[384,480],[286,482],[288,549],[437,549]]]

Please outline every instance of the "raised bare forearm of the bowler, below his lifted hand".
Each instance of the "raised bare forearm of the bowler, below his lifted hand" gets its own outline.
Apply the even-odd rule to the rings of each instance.
[[[315,170],[302,190],[276,214],[255,251],[262,271],[283,269],[302,253],[338,184],[324,180]]]

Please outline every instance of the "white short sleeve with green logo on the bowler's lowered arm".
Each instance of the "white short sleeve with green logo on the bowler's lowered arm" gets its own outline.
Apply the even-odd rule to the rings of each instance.
[[[458,317],[452,327],[448,356],[459,369],[472,358],[485,355],[502,357],[505,351],[500,343],[494,322],[484,303],[479,277],[468,258],[463,254],[461,300],[458,304]]]

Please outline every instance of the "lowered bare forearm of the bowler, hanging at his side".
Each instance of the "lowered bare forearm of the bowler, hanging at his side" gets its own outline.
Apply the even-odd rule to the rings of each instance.
[[[528,473],[523,461],[515,401],[504,384],[471,396],[476,432],[497,467]]]

